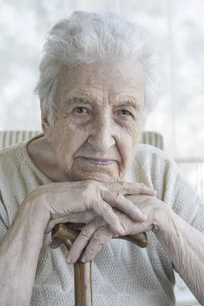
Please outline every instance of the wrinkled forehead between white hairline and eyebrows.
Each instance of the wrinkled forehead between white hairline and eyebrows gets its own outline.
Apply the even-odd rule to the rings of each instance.
[[[117,73],[119,75],[116,75]],[[95,75],[92,75],[90,70],[87,71],[86,69],[67,70],[63,73],[57,90],[57,96],[59,97],[57,101],[60,100],[64,104],[63,102],[67,99],[81,95],[99,103],[105,103],[105,101],[113,103],[118,99],[123,99],[123,97],[140,100],[144,91],[142,74],[134,75],[133,78],[132,75],[130,77],[130,74],[122,75],[123,73],[118,70],[117,73],[111,71],[105,74],[103,67],[101,67],[101,73],[98,70]]]

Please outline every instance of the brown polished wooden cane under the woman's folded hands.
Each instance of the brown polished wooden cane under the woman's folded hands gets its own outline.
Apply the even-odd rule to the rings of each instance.
[[[52,239],[62,242],[69,250],[74,240],[81,231],[72,230],[64,223],[55,225],[52,231]],[[119,236],[117,239],[130,241],[139,247],[147,246],[147,236],[145,233],[136,235]],[[81,257],[74,264],[74,297],[75,306],[92,306],[92,282],[91,282],[91,262],[82,263]]]

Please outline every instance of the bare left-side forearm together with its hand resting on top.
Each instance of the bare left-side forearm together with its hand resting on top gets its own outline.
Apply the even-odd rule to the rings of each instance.
[[[118,234],[121,223],[111,205],[125,210],[135,220],[140,220],[142,213],[131,201],[123,196],[118,197],[118,191],[123,191],[124,194],[155,194],[138,183],[111,183],[106,186],[94,181],[52,183],[32,191],[19,206],[13,223],[0,244],[1,306],[30,305],[43,235],[51,231],[55,224],[65,223],[73,218],[77,222],[84,222],[86,211],[90,211],[91,219],[96,216],[106,219]]]

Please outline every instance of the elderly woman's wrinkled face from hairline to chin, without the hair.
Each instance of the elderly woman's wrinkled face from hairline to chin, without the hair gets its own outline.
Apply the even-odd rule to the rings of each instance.
[[[121,181],[141,138],[145,85],[138,63],[64,70],[46,135],[68,181]]]

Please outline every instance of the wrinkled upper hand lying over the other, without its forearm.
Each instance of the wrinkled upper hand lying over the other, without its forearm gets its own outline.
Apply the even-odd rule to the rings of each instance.
[[[127,194],[155,196],[156,192],[140,183],[100,183],[87,180],[43,185],[31,192],[29,198],[38,203],[36,209],[39,209],[39,221],[45,234],[52,231],[58,223],[89,223],[96,217],[101,217],[114,234],[121,235],[124,227],[112,207],[135,221],[146,220],[142,212],[124,197]],[[87,211],[90,214],[85,213]],[[85,213],[83,220],[82,213]],[[86,216],[89,216],[88,219]]]

